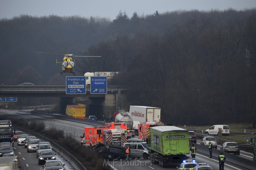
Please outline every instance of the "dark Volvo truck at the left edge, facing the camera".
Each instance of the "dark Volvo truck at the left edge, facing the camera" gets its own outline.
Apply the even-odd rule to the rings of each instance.
[[[13,135],[15,134],[15,129],[13,128],[11,120],[1,120],[0,121],[0,143],[10,142],[13,144]]]

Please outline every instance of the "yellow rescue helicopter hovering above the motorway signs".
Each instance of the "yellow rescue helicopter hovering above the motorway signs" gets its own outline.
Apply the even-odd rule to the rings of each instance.
[[[38,52],[36,53],[43,53],[43,52]],[[44,54],[51,54],[51,53],[44,53]],[[52,55],[58,55],[58,56],[64,56],[63,58],[63,63],[62,62],[57,62],[56,63],[62,63],[62,72],[59,74],[61,75],[62,73],[72,73],[73,75],[76,75],[73,70],[74,70],[74,62],[72,61],[71,56],[73,54],[52,54]],[[101,57],[101,56],[73,56],[73,57]]]

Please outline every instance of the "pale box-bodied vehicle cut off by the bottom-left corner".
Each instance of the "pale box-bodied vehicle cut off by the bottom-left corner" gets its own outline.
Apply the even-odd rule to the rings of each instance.
[[[0,158],[1,170],[18,170],[21,166],[18,166],[18,156],[8,156]]]

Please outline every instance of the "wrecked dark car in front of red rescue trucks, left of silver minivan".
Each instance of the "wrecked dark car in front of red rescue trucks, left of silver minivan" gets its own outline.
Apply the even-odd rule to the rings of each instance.
[[[123,149],[124,147],[121,146],[98,143],[94,145],[92,152],[102,155],[105,159],[113,160],[126,157]]]

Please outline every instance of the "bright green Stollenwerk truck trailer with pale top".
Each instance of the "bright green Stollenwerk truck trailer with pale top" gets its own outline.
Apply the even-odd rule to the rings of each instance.
[[[189,158],[188,130],[175,126],[150,127],[150,159],[165,167]]]

